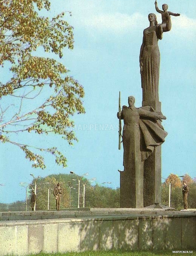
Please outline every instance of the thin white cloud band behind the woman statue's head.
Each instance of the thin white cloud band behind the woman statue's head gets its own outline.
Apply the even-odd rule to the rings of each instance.
[[[157,17],[159,18],[159,17]],[[179,17],[171,17],[172,30],[175,34],[181,34],[181,37],[195,37],[196,35],[196,19],[188,18],[186,15]],[[161,20],[158,19],[158,22]],[[81,17],[80,24],[83,29],[92,29],[96,32],[109,32],[111,34],[123,34],[128,31],[143,30],[149,26],[148,18],[139,12],[132,15],[115,12],[111,14],[92,14]]]

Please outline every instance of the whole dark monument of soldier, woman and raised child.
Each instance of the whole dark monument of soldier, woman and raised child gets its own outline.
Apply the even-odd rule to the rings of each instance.
[[[123,106],[117,113],[119,119],[119,139],[121,134],[120,120],[124,120],[122,133],[123,165],[120,172],[120,204],[124,208],[160,207],[161,208],[161,144],[167,132],[161,125],[166,119],[161,113],[159,102],[159,64],[160,53],[158,40],[162,33],[170,31],[170,15],[179,16],[167,11],[155,9],[162,15],[158,24],[156,15],[148,15],[149,27],[144,29],[143,41],[139,54],[142,107],[135,108],[135,98],[129,96],[129,106]],[[120,101],[119,101],[120,102]],[[120,105],[120,104],[119,104]],[[120,142],[119,142],[120,148]]]

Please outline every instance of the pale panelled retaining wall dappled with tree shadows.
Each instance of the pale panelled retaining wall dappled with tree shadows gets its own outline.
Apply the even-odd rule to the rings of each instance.
[[[196,214],[110,214],[0,222],[0,255],[112,249],[195,250]]]

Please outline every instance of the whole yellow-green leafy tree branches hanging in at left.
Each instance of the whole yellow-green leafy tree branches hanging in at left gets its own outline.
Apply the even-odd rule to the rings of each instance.
[[[10,105],[0,105],[0,142],[20,147],[34,162],[32,167],[46,167],[41,151],[51,153],[58,165],[66,167],[66,157],[56,147],[32,147],[13,141],[12,134],[56,134],[69,145],[77,140],[70,116],[85,112],[84,89],[56,60],[65,47],[73,49],[73,28],[64,20],[66,12],[51,19],[40,15],[42,9],[49,11],[49,0],[4,0],[0,9],[0,65],[9,63],[11,74],[7,82],[0,82],[0,99],[7,97],[15,107],[9,111]],[[40,49],[56,59],[41,56]]]

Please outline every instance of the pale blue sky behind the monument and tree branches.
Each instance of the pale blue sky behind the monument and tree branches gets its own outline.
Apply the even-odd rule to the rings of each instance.
[[[149,26],[149,13],[155,13],[161,23],[154,2],[52,0],[50,15],[66,10],[72,12],[66,19],[74,26],[75,47],[72,51],[64,50],[61,62],[85,90],[86,114],[73,117],[79,142],[71,147],[54,136],[30,137],[31,144],[58,146],[68,159],[68,167],[64,169],[46,156],[45,170],[32,169],[18,148],[1,145],[0,184],[5,187],[0,186],[0,202],[24,200],[25,190],[19,182],[30,183],[30,173],[45,177],[52,173],[68,174],[71,170],[78,175],[87,172],[88,178],[96,177],[98,184],[112,182],[110,187],[119,187],[117,170],[123,169],[123,150],[118,150],[118,93],[121,91],[121,105],[127,105],[127,97],[133,95],[136,107],[141,106],[139,51],[143,30]],[[163,3],[158,1],[159,9]],[[167,117],[162,125],[168,132],[162,145],[162,177],[170,173],[188,173],[195,177],[196,8],[193,0],[168,0],[166,3],[169,11],[181,15],[171,17],[171,31],[165,32],[158,42],[161,53],[159,100],[162,113]],[[3,80],[6,73],[1,77]]]

